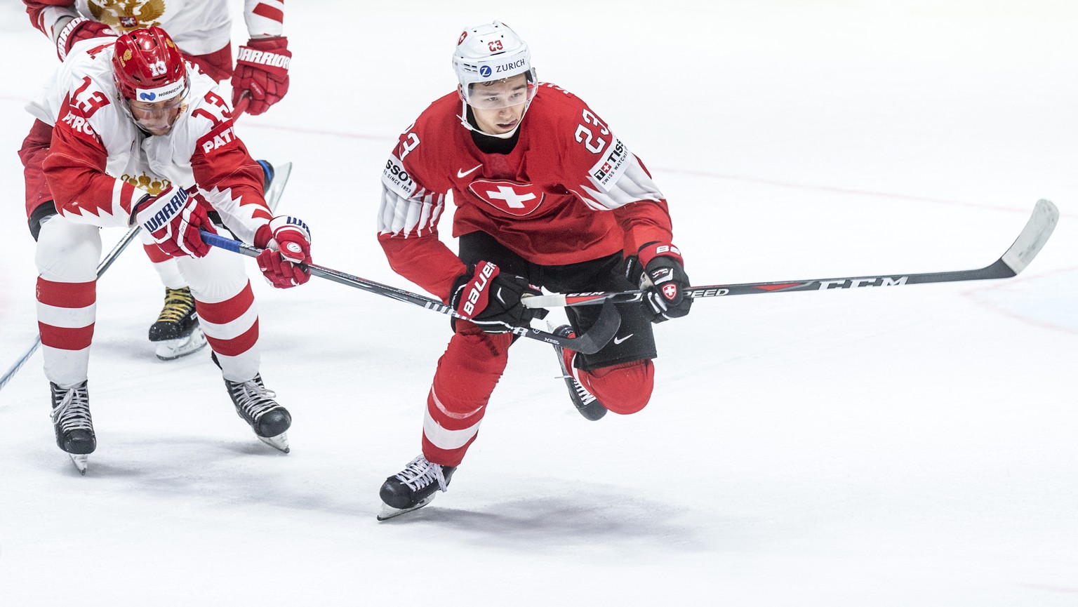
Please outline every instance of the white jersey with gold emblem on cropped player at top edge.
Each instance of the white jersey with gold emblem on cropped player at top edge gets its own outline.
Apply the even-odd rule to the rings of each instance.
[[[30,22],[52,38],[61,17],[84,16],[118,32],[157,26],[189,55],[220,51],[232,39],[229,0],[24,0]],[[244,0],[251,37],[281,36],[284,0]]]

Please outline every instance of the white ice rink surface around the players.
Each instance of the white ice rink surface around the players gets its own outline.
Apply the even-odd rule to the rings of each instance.
[[[581,418],[522,342],[450,492],[387,523],[445,317],[251,263],[282,455],[207,353],[153,357],[133,247],[98,284],[88,473],[40,354],[0,391],[0,605],[1078,605],[1078,5],[291,2],[290,92],[237,130],[294,163],[317,263],[418,290],[378,176],[493,18],[647,164],[696,284],[980,267],[1041,197],[1059,227],[1008,280],[697,301],[628,417]],[[56,59],[18,3],[0,33],[2,371],[36,332],[15,151]]]

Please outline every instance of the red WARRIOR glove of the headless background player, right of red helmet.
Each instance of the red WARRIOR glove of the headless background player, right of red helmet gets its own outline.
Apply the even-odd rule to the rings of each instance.
[[[247,93],[250,105],[247,113],[261,114],[270,106],[280,101],[288,93],[288,65],[292,53],[288,50],[288,39],[252,38],[247,46],[239,47],[236,71],[232,74],[232,105]]]

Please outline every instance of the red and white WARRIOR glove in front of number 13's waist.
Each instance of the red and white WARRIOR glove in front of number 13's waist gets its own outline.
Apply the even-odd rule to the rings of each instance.
[[[206,257],[209,245],[203,242],[198,230],[215,234],[217,231],[198,199],[182,188],[169,185],[156,196],[142,196],[132,207],[130,223],[138,222],[161,250],[172,257]]]

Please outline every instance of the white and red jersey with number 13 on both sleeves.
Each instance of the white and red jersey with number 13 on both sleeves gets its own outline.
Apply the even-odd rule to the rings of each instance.
[[[272,217],[263,170],[236,137],[232,109],[217,83],[189,67],[185,108],[167,135],[150,136],[118,100],[114,40],[75,44],[27,106],[54,125],[44,168],[56,210],[79,223],[127,225],[133,202],[143,195],[168,184],[197,188],[236,236],[253,242]]]

